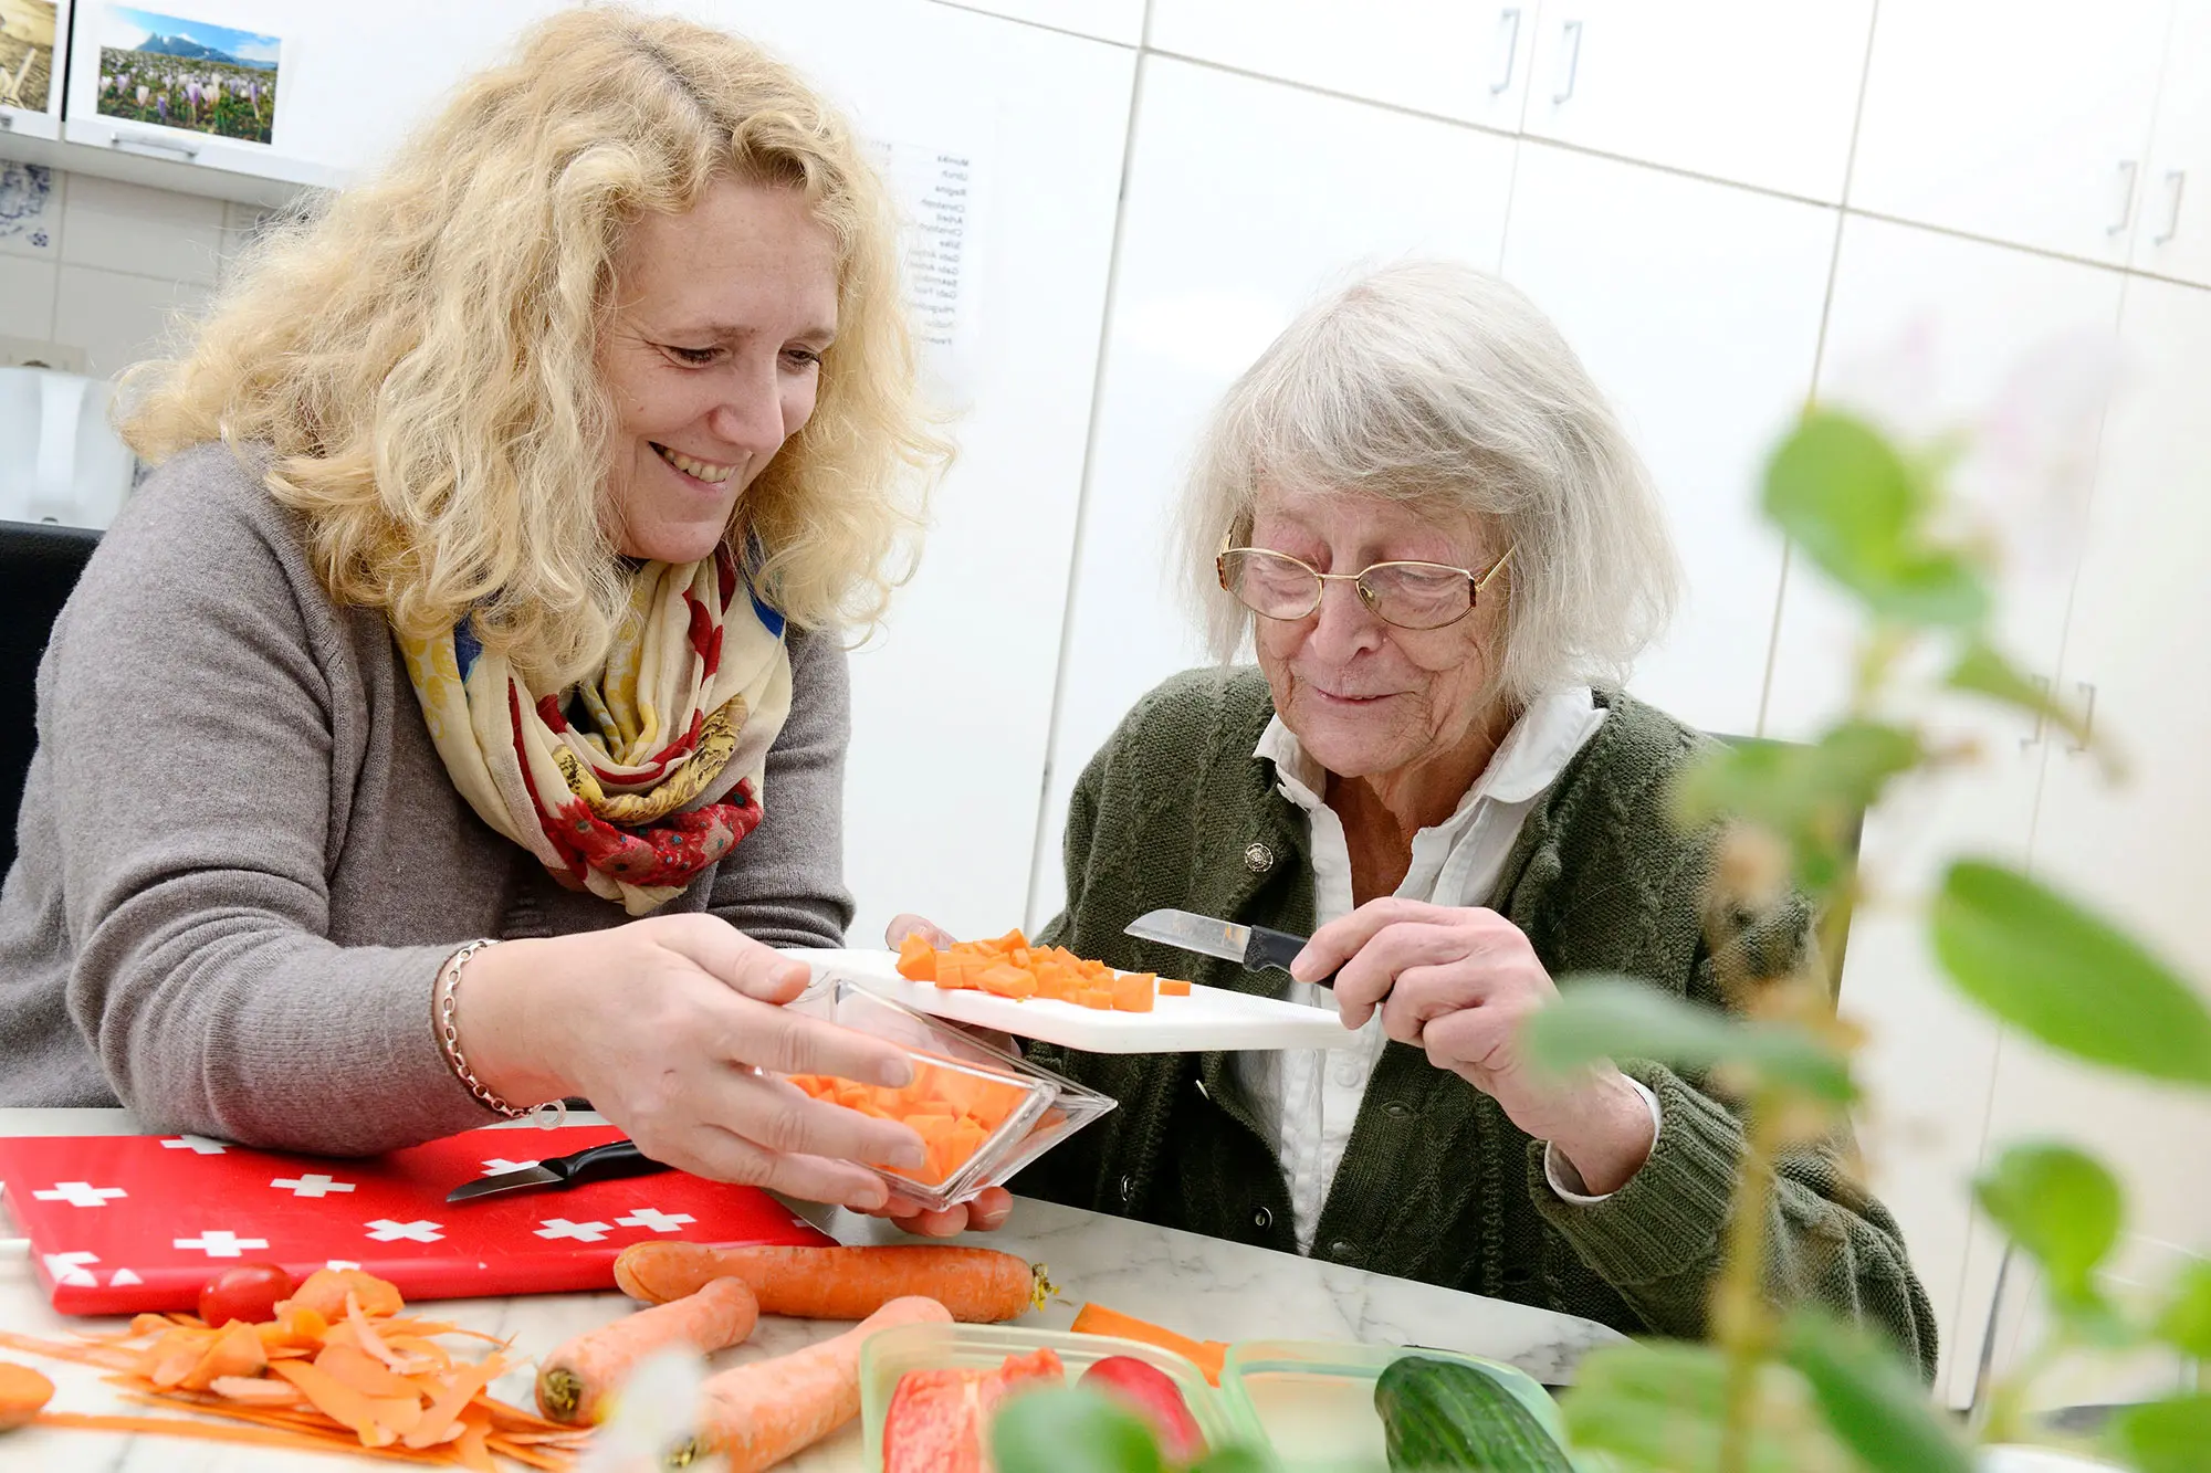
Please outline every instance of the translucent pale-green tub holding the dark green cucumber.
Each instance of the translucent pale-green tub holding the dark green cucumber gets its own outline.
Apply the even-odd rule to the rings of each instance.
[[[1220,1398],[1238,1420],[1260,1431],[1287,1473],[1389,1473],[1375,1380],[1406,1356],[1488,1371],[1565,1446],[1565,1420],[1532,1376],[1499,1360],[1417,1345],[1236,1340],[1220,1371]],[[1576,1469],[1594,1469],[1585,1458],[1568,1453],[1568,1460]]]

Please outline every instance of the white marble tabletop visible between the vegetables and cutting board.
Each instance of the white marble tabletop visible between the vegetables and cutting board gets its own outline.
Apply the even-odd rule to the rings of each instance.
[[[493,1126],[511,1128],[511,1126]],[[524,1126],[526,1128],[526,1126]],[[0,1135],[128,1135],[137,1126],[124,1110],[0,1110]],[[842,1243],[902,1241],[904,1234],[849,1212],[809,1212]],[[1335,1263],[1313,1263],[1245,1243],[1225,1243],[1119,1216],[1019,1199],[1013,1219],[986,1243],[1050,1265],[1061,1300],[1017,1325],[1066,1329],[1077,1307],[1101,1300],[1139,1318],[1172,1325],[1203,1340],[1362,1340],[1428,1345],[1508,1360],[1537,1380],[1572,1380],[1583,1351],[1618,1340],[1603,1325],[1548,1309],[1457,1294],[1426,1283],[1389,1278]],[[440,1316],[471,1329],[511,1336],[515,1351],[535,1356],[593,1325],[630,1309],[621,1294],[535,1294],[495,1300],[453,1300]],[[0,1261],[0,1327],[40,1338],[115,1325],[57,1316],[22,1254]],[[752,1340],[725,1351],[716,1365],[776,1356],[845,1329],[825,1320],[763,1318]],[[15,1358],[9,1351],[11,1358]],[[57,1391],[57,1411],[139,1411],[117,1400],[99,1371],[40,1360]],[[531,1371],[495,1382],[506,1400],[531,1404]],[[102,1469],[104,1473],[268,1473],[323,1469],[338,1473],[389,1466],[371,1458],[332,1458],[188,1442],[181,1438],[122,1438],[27,1427],[0,1433],[0,1469]],[[860,1429],[847,1427],[785,1464],[796,1473],[851,1473],[860,1462]]]

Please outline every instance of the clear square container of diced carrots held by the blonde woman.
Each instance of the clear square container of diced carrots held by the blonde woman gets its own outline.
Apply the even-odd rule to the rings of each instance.
[[[991,1121],[979,1139],[960,1143],[951,1170],[898,1172],[873,1168],[900,1197],[933,1210],[968,1201],[1068,1139],[1106,1110],[1110,1095],[977,1040],[942,1020],[878,997],[849,978],[822,978],[792,1009],[889,1040],[913,1055],[915,1090],[942,1099],[949,1115],[968,1110]]]

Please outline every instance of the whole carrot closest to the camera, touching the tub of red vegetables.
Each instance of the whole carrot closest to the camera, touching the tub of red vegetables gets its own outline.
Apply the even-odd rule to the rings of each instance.
[[[699,1431],[668,1462],[723,1453],[730,1473],[772,1469],[860,1415],[860,1345],[871,1334],[951,1318],[933,1298],[893,1298],[831,1340],[708,1378]]]

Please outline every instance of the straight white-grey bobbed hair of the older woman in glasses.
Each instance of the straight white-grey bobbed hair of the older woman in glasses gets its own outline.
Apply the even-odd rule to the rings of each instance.
[[[1307,307],[1198,442],[1178,551],[1214,655],[1251,613],[1214,582],[1260,491],[1466,511],[1512,546],[1497,683],[1618,686],[1674,613],[1680,564],[1643,458],[1548,316],[1503,281],[1406,261]]]

